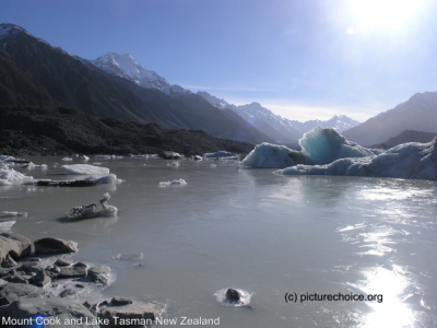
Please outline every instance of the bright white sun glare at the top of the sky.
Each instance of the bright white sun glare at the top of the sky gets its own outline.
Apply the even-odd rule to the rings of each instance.
[[[414,16],[421,0],[351,0],[356,27],[400,30]]]

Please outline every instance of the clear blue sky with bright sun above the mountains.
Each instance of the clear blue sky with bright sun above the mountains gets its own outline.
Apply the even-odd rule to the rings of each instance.
[[[364,121],[437,91],[434,0],[0,0],[13,23],[95,59],[305,121]]]

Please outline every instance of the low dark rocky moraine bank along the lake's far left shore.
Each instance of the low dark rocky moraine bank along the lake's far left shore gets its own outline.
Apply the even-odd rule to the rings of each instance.
[[[0,108],[0,153],[10,155],[128,154],[172,150],[202,154],[248,153],[253,145],[202,131],[166,130],[67,108]]]

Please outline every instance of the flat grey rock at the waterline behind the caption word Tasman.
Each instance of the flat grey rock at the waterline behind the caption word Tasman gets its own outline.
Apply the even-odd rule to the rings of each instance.
[[[102,319],[108,319],[108,327],[117,327],[115,317],[121,319],[149,319],[155,320],[164,312],[165,305],[160,302],[138,303],[126,306],[105,307],[98,313]]]

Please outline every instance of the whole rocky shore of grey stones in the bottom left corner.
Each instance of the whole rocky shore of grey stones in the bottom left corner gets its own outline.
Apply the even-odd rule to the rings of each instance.
[[[153,324],[165,311],[160,302],[134,303],[115,296],[80,304],[80,290],[105,288],[110,268],[71,262],[62,255],[78,244],[59,238],[31,242],[13,232],[0,233],[1,327],[121,327]]]

